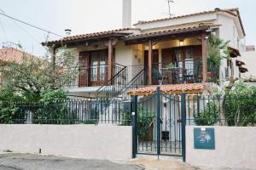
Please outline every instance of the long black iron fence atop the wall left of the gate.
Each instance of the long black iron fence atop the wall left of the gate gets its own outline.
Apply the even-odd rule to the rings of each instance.
[[[1,103],[0,123],[131,124],[121,100],[66,100],[53,103]]]

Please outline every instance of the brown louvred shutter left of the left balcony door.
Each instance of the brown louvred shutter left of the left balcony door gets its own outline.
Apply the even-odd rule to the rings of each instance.
[[[87,51],[79,54],[79,87],[89,86],[90,63]]]

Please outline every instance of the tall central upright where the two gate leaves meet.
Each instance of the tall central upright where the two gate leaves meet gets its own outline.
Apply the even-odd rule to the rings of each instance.
[[[160,103],[160,87],[156,88],[156,99],[157,99],[157,108],[156,108],[156,144],[157,144],[157,156],[159,160],[160,156],[160,111],[161,111],[161,103]]]

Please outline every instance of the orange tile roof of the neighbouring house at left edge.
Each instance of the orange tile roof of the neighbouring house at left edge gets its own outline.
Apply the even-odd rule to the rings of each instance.
[[[24,56],[26,55],[27,59],[39,59],[36,56],[31,54],[27,54],[24,51],[20,51],[16,48],[2,48],[0,49],[0,63],[8,64],[15,62],[17,64],[21,64],[24,60]]]

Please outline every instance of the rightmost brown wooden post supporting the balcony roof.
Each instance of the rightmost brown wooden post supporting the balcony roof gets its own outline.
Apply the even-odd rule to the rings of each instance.
[[[201,34],[202,80],[207,82],[207,40],[206,32]]]

